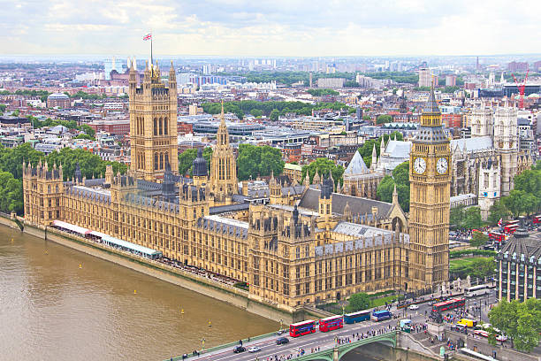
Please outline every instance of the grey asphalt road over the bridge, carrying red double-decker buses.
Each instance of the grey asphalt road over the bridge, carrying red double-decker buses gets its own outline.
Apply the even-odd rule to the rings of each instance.
[[[479,304],[482,304],[482,319],[484,321],[488,321],[488,306],[485,307],[484,302],[487,301],[487,304],[490,305],[491,303],[495,303],[495,300],[496,292],[495,290],[491,290],[488,296],[469,298],[467,301],[467,306],[473,308]],[[430,313],[431,305],[429,303],[420,303],[419,309],[415,311],[410,311],[407,309],[396,310],[395,307],[392,307],[391,311],[394,315],[398,315],[399,319],[411,319],[413,323],[424,323],[426,321],[425,311],[426,314]],[[474,313],[471,314],[472,316],[474,315]],[[478,314],[478,312],[475,313],[477,319]],[[365,321],[354,325],[344,325],[344,328],[328,333],[316,331],[315,334],[307,334],[298,338],[293,338],[288,334],[284,334],[284,336],[289,339],[289,343],[285,345],[277,345],[276,340],[278,337],[282,336],[275,335],[266,339],[257,340],[255,342],[244,342],[243,346],[247,349],[247,351],[239,354],[233,353],[233,347],[230,347],[228,349],[220,349],[209,354],[203,354],[195,359],[209,361],[254,361],[255,357],[258,357],[259,360],[263,361],[266,360],[267,357],[272,357],[272,359],[274,359],[275,356],[287,357],[288,355],[293,355],[294,358],[297,356],[300,349],[304,349],[306,353],[310,353],[311,349],[315,349],[317,347],[320,349],[331,349],[334,347],[335,338],[337,337],[342,339],[346,337],[351,338],[353,334],[357,333],[367,334],[368,332],[381,330],[389,326],[392,328],[397,326],[399,319],[391,319],[382,322]],[[259,352],[249,353],[248,349],[252,346],[257,346],[261,350]]]

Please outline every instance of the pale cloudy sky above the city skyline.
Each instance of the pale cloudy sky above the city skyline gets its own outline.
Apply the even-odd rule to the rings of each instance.
[[[541,51],[539,0],[0,0],[4,55]]]

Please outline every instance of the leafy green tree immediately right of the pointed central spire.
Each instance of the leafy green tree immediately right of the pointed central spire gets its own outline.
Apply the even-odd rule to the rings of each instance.
[[[239,180],[255,179],[258,176],[280,175],[284,170],[282,152],[268,145],[258,147],[252,144],[240,144],[237,168]]]

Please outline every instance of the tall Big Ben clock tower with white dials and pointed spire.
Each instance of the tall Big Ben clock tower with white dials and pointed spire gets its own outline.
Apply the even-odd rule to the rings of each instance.
[[[433,88],[409,157],[408,289],[434,288],[449,279],[451,150]]]

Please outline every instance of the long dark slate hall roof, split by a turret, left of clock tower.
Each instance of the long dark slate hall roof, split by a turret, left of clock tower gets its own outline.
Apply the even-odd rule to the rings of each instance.
[[[299,203],[300,208],[308,208],[312,211],[318,211],[319,209],[319,195],[321,191],[315,188],[309,188],[306,190]],[[344,208],[346,204],[349,204],[349,209],[353,215],[365,213],[371,214],[372,207],[377,207],[377,218],[386,218],[392,210],[392,204],[386,202],[376,201],[374,199],[362,198],[359,196],[347,196],[340,195],[338,193],[332,193],[332,212],[337,214],[344,214]]]

